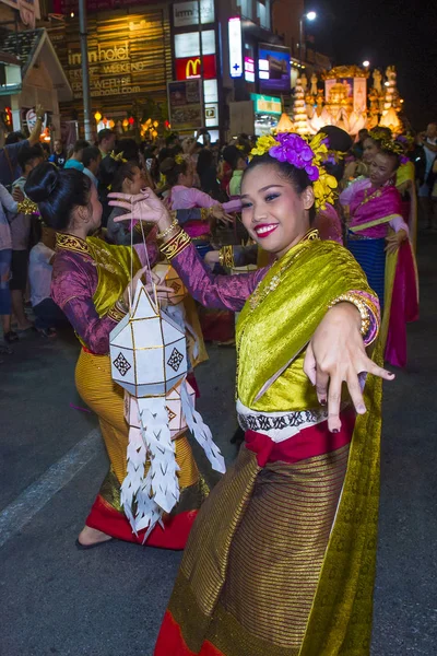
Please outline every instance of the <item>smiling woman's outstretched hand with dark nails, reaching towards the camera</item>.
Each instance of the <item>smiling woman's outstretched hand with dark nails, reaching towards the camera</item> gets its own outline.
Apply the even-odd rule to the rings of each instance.
[[[364,347],[358,311],[350,303],[332,307],[317,328],[308,344],[304,372],[316,386],[321,406],[328,403],[328,427],[341,429],[340,406],[343,383],[346,383],[355,410],[366,412],[359,374],[369,373],[385,380],[394,374],[373,362]]]

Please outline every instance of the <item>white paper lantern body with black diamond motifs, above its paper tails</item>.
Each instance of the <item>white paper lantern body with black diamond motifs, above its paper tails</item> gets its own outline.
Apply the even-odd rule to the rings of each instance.
[[[187,373],[182,329],[139,282],[130,315],[110,333],[113,379],[131,395],[165,396]]]

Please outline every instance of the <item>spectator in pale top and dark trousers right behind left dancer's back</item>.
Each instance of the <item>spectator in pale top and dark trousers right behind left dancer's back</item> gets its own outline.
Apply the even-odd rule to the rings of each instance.
[[[56,232],[51,227],[43,227],[39,242],[31,250],[28,263],[35,328],[45,337],[56,337],[56,328],[68,325],[66,315],[50,296],[55,246]]]

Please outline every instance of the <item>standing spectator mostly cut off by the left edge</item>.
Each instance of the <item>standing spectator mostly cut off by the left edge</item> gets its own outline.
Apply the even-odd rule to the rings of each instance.
[[[0,317],[3,337],[8,342],[16,341],[19,336],[11,330],[11,276],[12,237],[7,212],[16,216],[17,203],[8,189],[0,185]]]

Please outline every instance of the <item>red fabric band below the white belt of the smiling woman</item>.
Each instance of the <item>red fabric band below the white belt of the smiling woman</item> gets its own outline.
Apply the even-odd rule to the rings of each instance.
[[[349,444],[355,425],[355,412],[345,410],[340,415],[342,427],[339,433],[330,433],[328,421],[303,429],[299,433],[284,440],[273,442],[267,435],[255,431],[246,431],[246,447],[257,454],[260,467],[268,462],[298,462],[322,454],[329,454]]]

